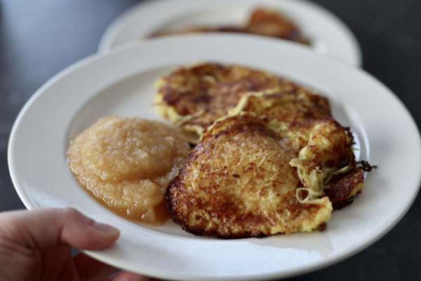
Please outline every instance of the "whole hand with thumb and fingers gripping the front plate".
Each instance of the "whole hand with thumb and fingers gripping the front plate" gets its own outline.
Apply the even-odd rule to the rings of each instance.
[[[76,209],[6,211],[0,214],[0,280],[152,280],[120,271],[77,249],[105,249],[119,230]]]

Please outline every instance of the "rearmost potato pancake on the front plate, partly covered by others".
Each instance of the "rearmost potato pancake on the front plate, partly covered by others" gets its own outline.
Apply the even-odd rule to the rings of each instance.
[[[249,91],[293,92],[298,88],[268,72],[239,65],[201,63],[180,67],[156,81],[154,104],[164,117],[181,129],[201,136]]]

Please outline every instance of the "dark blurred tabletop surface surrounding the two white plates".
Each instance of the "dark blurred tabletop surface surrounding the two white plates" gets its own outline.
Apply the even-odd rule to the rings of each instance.
[[[58,71],[95,53],[109,23],[137,2],[0,0],[0,211],[24,208],[7,166],[8,136],[19,110]],[[349,26],[361,45],[363,69],[392,89],[420,128],[421,1],[315,2]],[[421,280],[419,214],[420,196],[372,246],[334,266],[290,280]]]

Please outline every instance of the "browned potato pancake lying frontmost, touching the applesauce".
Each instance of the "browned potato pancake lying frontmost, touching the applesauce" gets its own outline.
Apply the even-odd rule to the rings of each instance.
[[[311,231],[330,218],[328,197],[300,202],[290,160],[298,152],[250,113],[226,117],[203,134],[166,193],[175,223],[196,235],[261,237]]]

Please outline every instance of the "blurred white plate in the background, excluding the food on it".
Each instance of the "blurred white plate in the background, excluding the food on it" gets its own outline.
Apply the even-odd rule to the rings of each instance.
[[[155,0],[133,6],[102,35],[99,52],[138,41],[158,30],[194,25],[241,25],[257,7],[274,8],[293,20],[317,53],[361,66],[359,45],[348,27],[321,6],[302,0]]]

